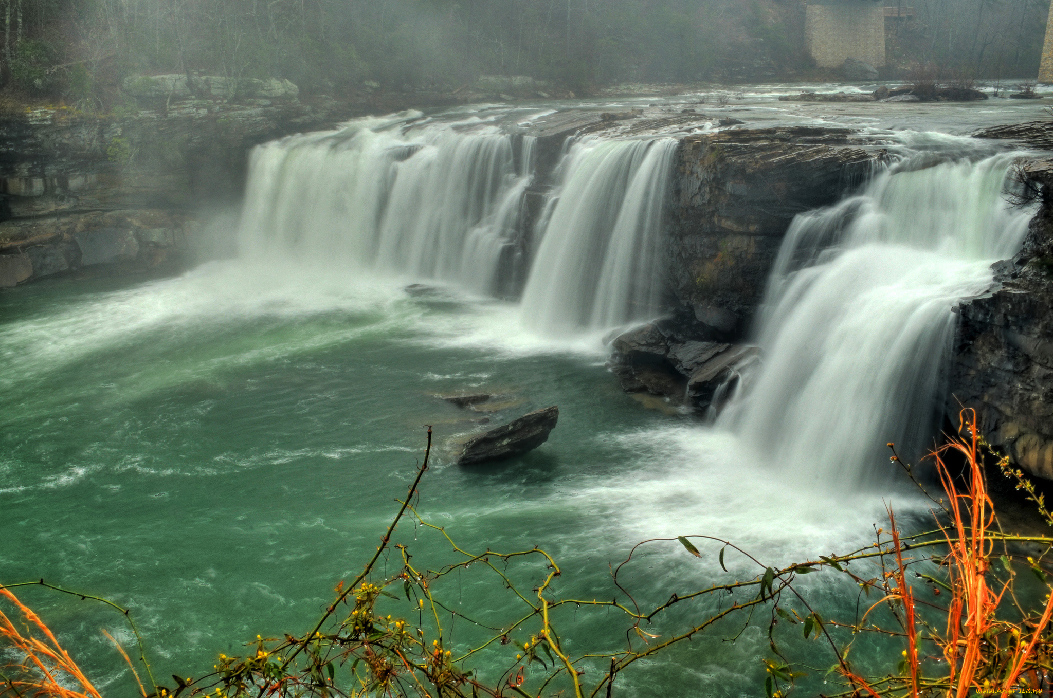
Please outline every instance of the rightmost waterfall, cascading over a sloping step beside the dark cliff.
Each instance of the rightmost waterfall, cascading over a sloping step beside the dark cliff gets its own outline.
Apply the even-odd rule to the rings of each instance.
[[[796,477],[853,487],[887,441],[937,433],[954,305],[984,293],[1033,212],[1005,200],[1014,156],[879,174],[787,234],[759,321],[763,365],[721,416]]]

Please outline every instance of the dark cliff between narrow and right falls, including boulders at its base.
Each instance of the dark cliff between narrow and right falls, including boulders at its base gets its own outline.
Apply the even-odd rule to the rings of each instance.
[[[669,317],[613,342],[629,392],[719,406],[760,359],[740,342],[794,216],[837,202],[883,152],[847,129],[733,129],[686,138],[667,240]]]

